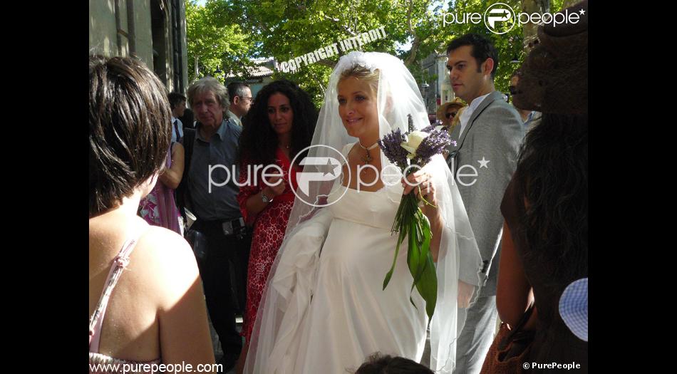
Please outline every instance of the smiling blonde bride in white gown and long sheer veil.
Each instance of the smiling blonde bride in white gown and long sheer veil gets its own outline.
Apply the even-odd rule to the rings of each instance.
[[[316,160],[341,160],[340,177],[309,178],[307,188],[297,191],[262,297],[246,373],[346,373],[377,351],[421,360],[428,316],[423,298],[411,291],[406,240],[383,289],[397,242],[393,219],[408,193],[433,205],[422,207],[433,232],[438,276],[430,368],[453,370],[455,340],[465,321],[465,308],[457,307],[467,307],[467,298],[477,295],[482,263],[442,156],[405,180],[378,147],[383,135],[408,131],[408,114],[416,130],[428,126],[420,92],[402,61],[373,52],[341,57],[308,152],[325,157]],[[310,164],[304,173],[331,177],[329,165]]]

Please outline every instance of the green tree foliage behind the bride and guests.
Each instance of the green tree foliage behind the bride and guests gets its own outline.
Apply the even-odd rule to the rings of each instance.
[[[551,11],[558,11],[562,1],[552,0]],[[500,61],[495,86],[507,92],[512,72],[524,61],[522,27],[515,25],[509,32],[497,35],[488,31],[484,22],[443,24],[445,12],[483,15],[495,2],[450,0],[444,6],[443,0],[207,0],[200,7],[190,0],[186,11],[188,60],[190,65],[194,63],[192,56],[200,56],[200,64],[207,71],[214,71],[221,63],[244,74],[247,58],[272,57],[281,63],[383,26],[387,38],[366,43],[361,50],[392,53],[405,61],[413,76],[430,80],[436,77],[423,77],[421,61],[430,53],[445,53],[453,38],[473,32],[487,36],[495,44]],[[501,2],[516,12],[522,11],[520,0]],[[192,22],[197,25],[191,25]],[[408,49],[398,48],[409,45]],[[295,72],[276,70],[274,78],[294,80],[321,105],[329,74],[338,58],[331,56],[303,65]],[[520,63],[511,63],[515,59]]]

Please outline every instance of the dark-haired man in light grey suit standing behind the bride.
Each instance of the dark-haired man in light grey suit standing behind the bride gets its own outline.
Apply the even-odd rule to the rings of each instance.
[[[452,130],[447,162],[465,205],[484,266],[477,301],[467,308],[456,346],[454,373],[480,373],[496,328],[496,282],[503,217],[500,204],[517,165],[524,130],[520,114],[494,88],[498,53],[486,38],[466,34],[447,48],[447,68],[456,96],[468,103]],[[460,269],[459,306],[475,269]],[[466,275],[467,274],[467,275]],[[460,315],[462,311],[459,311]]]

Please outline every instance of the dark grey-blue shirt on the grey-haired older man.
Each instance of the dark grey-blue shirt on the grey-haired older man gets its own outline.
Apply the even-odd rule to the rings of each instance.
[[[235,160],[242,128],[224,119],[217,132],[207,142],[200,134],[201,126],[198,125],[195,132],[188,173],[188,188],[195,214],[199,219],[206,221],[241,217],[237,204],[239,187],[235,185],[239,177],[239,165],[235,165]],[[226,180],[227,183],[223,185]]]

